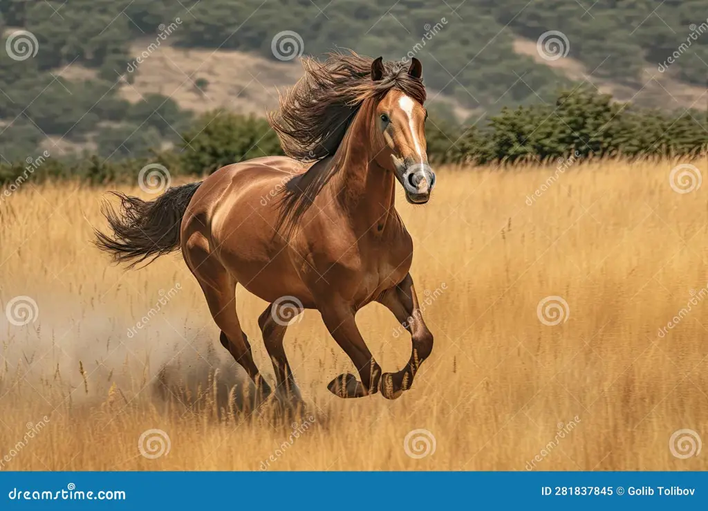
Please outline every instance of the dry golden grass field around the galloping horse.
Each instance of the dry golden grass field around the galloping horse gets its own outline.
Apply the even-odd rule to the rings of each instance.
[[[675,193],[676,163],[571,168],[532,206],[527,195],[554,167],[445,169],[426,207],[399,195],[418,293],[445,282],[424,312],[433,355],[397,401],[336,398],[326,384],[351,364],[307,311],[285,345],[308,408],[286,420],[275,407],[229,405],[242,373],[179,255],[111,267],[90,244],[103,190],[25,184],[0,205],[0,302],[32,297],[39,312],[27,326],[0,314],[0,459],[28,423],[49,422],[1,468],[258,470],[273,455],[273,470],[525,470],[573,420],[538,469],[706,470],[705,453],[678,459],[669,449],[676,430],[708,433],[707,187]],[[697,305],[659,337],[691,290]],[[546,326],[537,305],[552,295],[569,317]],[[272,381],[256,324],[265,304],[242,289],[237,297]],[[408,335],[394,335],[388,311],[370,305],[358,323],[384,370],[407,360]],[[310,415],[290,445],[291,423]],[[171,449],[147,459],[138,440],[153,428]],[[433,454],[406,455],[415,429],[434,435]]]

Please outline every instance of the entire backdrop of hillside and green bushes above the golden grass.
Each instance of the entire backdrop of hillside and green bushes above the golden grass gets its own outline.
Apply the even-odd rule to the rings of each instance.
[[[707,140],[706,11],[700,0],[1,0],[0,178],[43,151],[52,163],[38,176],[92,180],[122,176],[125,159],[201,173],[277,153],[263,116],[301,76],[298,57],[347,48],[421,59],[438,161],[685,154]]]

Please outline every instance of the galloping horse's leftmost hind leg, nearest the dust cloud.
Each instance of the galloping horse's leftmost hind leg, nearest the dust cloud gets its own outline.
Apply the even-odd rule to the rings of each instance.
[[[256,392],[261,394],[262,398],[267,397],[270,394],[270,386],[253,362],[251,345],[246,334],[241,331],[241,323],[236,316],[236,281],[222,264],[203,248],[190,247],[185,260],[202,287],[214,322],[221,328],[219,340],[234,360],[246,369],[256,385]]]

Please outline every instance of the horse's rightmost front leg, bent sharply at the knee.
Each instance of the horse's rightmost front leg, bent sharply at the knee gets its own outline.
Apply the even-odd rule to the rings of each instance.
[[[394,313],[399,323],[411,334],[413,343],[411,360],[406,364],[406,367],[399,372],[387,372],[382,375],[381,393],[386,398],[395,399],[401,396],[403,391],[411,388],[418,368],[421,367],[423,360],[430,356],[430,352],[433,350],[433,334],[430,333],[423,321],[410,273],[399,285],[384,292],[378,302]]]

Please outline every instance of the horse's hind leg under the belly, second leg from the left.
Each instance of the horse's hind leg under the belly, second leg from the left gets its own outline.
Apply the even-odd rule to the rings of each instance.
[[[280,316],[278,315],[278,311],[273,311],[274,306],[277,306],[277,304],[269,304],[265,307],[263,314],[258,317],[258,326],[261,327],[265,349],[268,350],[270,361],[273,362],[275,378],[278,382],[275,394],[285,394],[287,401],[302,401],[300,391],[295,384],[295,379],[292,377],[290,364],[287,362],[285,348],[283,348],[282,345],[283,338],[285,338],[285,331],[287,330],[287,323],[281,320],[276,321],[276,318]],[[292,321],[295,317],[289,319]]]

